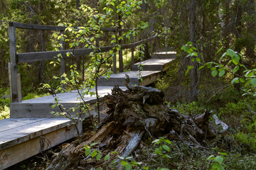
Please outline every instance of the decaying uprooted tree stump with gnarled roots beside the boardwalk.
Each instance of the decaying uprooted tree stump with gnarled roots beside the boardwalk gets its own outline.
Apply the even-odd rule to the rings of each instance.
[[[198,147],[203,147],[201,144],[206,138],[216,136],[215,128],[208,123],[211,111],[202,115],[182,115],[164,104],[163,92],[133,86],[128,76],[126,86],[127,91],[114,86],[112,94],[106,96],[107,118],[98,125],[97,132],[82,142],[75,141],[65,147],[48,169],[90,169],[110,164],[114,156],[106,162],[85,156],[85,145],[93,142],[98,143],[97,150],[102,152],[103,157],[110,152],[128,157],[144,136],[154,138],[167,135],[169,140],[190,140]]]

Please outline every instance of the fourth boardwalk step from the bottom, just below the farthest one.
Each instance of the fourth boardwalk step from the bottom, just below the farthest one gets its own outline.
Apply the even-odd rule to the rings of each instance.
[[[133,71],[138,71],[139,64],[142,64],[143,71],[166,71],[169,64],[174,59],[150,59],[138,62],[132,66]]]

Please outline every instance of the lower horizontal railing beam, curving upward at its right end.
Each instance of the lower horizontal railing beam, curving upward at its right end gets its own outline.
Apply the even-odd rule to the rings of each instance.
[[[141,45],[144,42],[149,42],[151,40],[154,40],[157,35],[154,35],[151,38],[147,38],[145,40],[140,40],[134,43],[121,45],[121,49],[127,49],[131,47],[136,47],[138,45]],[[114,45],[111,46],[105,46],[105,47],[99,47],[100,52],[108,52],[114,48]],[[46,51],[46,52],[26,52],[26,53],[19,53],[17,54],[18,63],[23,62],[38,62],[43,60],[53,60],[55,57],[57,57],[58,54],[61,54],[62,57],[68,57],[67,52],[73,52],[73,55],[75,57],[82,56],[82,55],[90,55],[90,52],[94,52],[92,48],[85,48],[85,49],[75,49],[75,50],[60,50],[60,51]]]

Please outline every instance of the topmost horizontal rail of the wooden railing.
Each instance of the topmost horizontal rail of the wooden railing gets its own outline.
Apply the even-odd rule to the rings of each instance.
[[[16,22],[10,22],[9,26],[14,26],[15,28],[31,29],[31,30],[65,30],[65,28],[67,28],[63,26],[44,26],[44,25],[38,25],[38,24],[16,23]],[[79,29],[79,27],[75,27],[75,28]],[[90,30],[94,30],[94,29],[90,29]],[[115,31],[129,31],[132,29],[100,28],[100,30],[115,32]]]

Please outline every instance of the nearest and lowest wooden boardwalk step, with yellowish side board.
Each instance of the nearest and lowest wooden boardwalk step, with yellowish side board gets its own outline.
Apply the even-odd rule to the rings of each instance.
[[[67,118],[8,118],[0,120],[0,125],[0,169],[78,135]],[[82,132],[82,123],[78,130]]]

